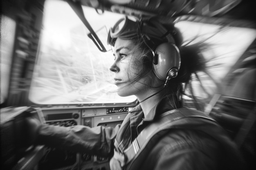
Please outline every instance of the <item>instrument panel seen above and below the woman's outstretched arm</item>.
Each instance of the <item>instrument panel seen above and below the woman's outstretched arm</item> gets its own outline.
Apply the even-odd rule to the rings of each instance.
[[[90,128],[105,126],[114,128],[121,124],[132,107],[56,107],[41,108],[45,123],[52,126],[83,125]],[[39,111],[39,110],[38,110]],[[38,170],[78,168],[79,170],[110,170],[108,157],[72,153],[57,148],[46,148],[45,156],[38,164]]]

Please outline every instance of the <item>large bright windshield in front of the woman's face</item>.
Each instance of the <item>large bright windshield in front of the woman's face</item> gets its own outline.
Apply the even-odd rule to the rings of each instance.
[[[123,15],[83,7],[86,19],[101,37]],[[102,53],[87,34],[88,29],[63,1],[48,0],[44,6],[38,59],[29,98],[36,104],[130,103],[136,97],[119,97],[109,70],[112,51]],[[103,41],[103,40],[102,40]]]

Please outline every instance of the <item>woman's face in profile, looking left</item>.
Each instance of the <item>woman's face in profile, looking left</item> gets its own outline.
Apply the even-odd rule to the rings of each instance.
[[[117,38],[114,46],[115,62],[110,70],[115,72],[115,84],[117,85],[119,96],[129,96],[144,94],[147,87],[146,78],[137,79],[137,74],[141,71],[141,64],[138,59],[141,50],[135,49],[131,40]],[[136,81],[134,81],[136,79]]]

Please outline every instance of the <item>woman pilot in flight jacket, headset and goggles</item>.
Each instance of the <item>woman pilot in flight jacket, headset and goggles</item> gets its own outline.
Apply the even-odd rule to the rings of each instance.
[[[126,17],[110,29],[108,43],[114,47],[110,70],[117,93],[135,95],[139,105],[115,128],[40,125],[36,144],[110,157],[111,170],[241,169],[224,130],[180,106],[181,84],[196,64],[173,24]]]

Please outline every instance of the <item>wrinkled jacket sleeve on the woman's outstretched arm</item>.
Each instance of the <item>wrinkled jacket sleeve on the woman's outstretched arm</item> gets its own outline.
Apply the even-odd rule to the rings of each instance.
[[[72,127],[42,125],[38,129],[37,144],[62,148],[103,157],[112,156],[114,139],[120,125],[115,128],[97,126],[90,128],[77,125]]]

